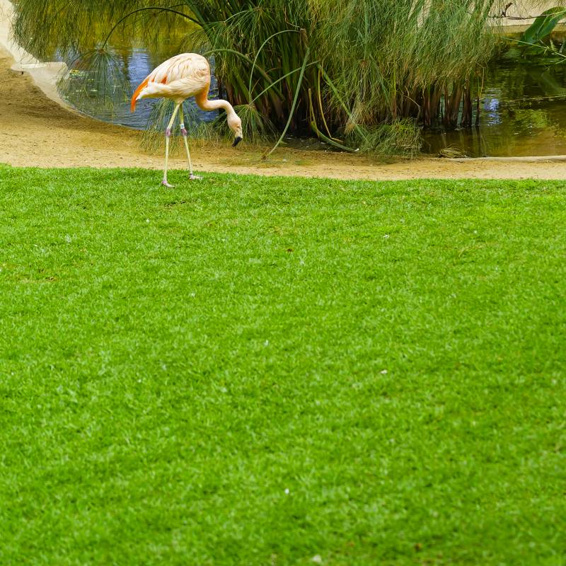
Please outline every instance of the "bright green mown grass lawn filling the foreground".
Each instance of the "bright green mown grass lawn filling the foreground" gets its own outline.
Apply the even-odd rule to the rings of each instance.
[[[566,183],[160,178],[0,167],[2,566],[566,564]]]

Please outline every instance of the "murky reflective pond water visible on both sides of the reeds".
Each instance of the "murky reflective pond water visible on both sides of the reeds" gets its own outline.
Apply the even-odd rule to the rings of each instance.
[[[558,40],[563,41],[564,37]],[[132,85],[168,57],[182,50],[181,36],[158,42],[151,50],[144,45],[113,45]],[[213,79],[214,81],[214,79]],[[214,98],[212,85],[211,98]],[[520,62],[502,57],[485,71],[480,98],[480,125],[452,132],[423,131],[423,151],[438,154],[451,147],[466,156],[544,156],[566,154],[566,65]],[[123,86],[117,86],[122,92]],[[125,95],[129,93],[124,93]],[[72,100],[70,100],[72,103]],[[144,100],[134,114],[122,96],[112,106],[81,108],[107,122],[144,129],[156,100]],[[212,120],[216,112],[195,112],[200,120]],[[475,111],[473,122],[475,123]]]

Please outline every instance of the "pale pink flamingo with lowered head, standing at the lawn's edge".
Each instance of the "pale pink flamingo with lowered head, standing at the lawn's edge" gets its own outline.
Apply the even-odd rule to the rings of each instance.
[[[227,100],[208,100],[210,87],[210,66],[207,59],[197,53],[181,53],[161,63],[144,81],[137,87],[132,96],[131,111],[136,110],[136,103],[141,98],[171,98],[175,102],[175,110],[165,130],[165,168],[163,169],[163,181],[161,185],[173,187],[167,181],[167,163],[169,158],[169,138],[171,128],[175,122],[175,116],[179,112],[180,129],[187,150],[189,160],[190,180],[200,180],[192,173],[192,162],[190,160],[189,144],[187,141],[187,130],[183,120],[183,102],[190,96],[195,97],[195,102],[202,110],[219,110],[224,108],[228,116],[228,125],[234,132],[235,139],[232,144],[236,147],[242,141],[242,122],[232,105]]]

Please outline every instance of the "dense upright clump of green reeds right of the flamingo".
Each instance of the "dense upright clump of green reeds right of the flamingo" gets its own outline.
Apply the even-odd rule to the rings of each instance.
[[[487,26],[493,0],[234,0],[229,16],[224,1],[185,4],[204,31],[191,47],[215,54],[231,100],[243,104],[265,91],[255,104],[281,130],[299,89],[295,134],[307,133],[313,121],[330,135],[349,125],[383,127],[385,135],[408,119],[469,127],[495,44]],[[253,56],[255,66],[238,54]],[[271,86],[266,74],[285,78]]]

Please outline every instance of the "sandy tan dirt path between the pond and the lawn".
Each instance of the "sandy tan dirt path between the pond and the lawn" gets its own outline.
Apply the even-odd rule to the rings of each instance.
[[[50,100],[27,73],[10,69],[0,51],[0,163],[37,167],[144,167],[159,169],[163,156],[144,154],[140,132],[91,120]],[[367,158],[329,151],[282,149],[267,163],[258,149],[196,147],[197,171],[299,175],[340,179],[545,178],[566,179],[566,161],[422,158],[376,164]],[[173,168],[185,160],[173,158]]]

